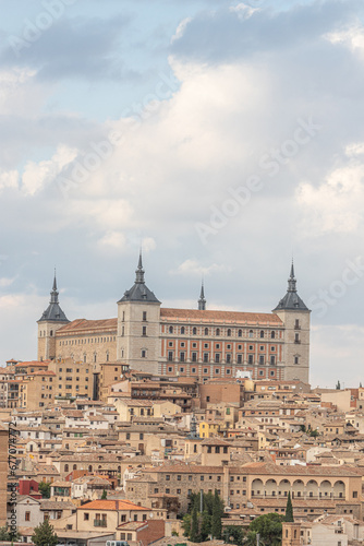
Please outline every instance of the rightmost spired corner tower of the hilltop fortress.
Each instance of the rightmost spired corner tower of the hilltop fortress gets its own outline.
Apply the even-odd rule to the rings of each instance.
[[[293,261],[286,296],[272,310],[284,323],[282,364],[284,379],[310,380],[310,309],[296,290]]]

